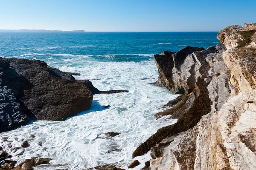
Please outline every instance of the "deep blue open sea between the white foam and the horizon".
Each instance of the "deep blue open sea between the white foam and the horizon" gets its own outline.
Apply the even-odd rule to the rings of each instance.
[[[90,60],[139,62],[152,60],[153,54],[165,50],[175,52],[185,46],[215,46],[219,43],[217,33],[0,32],[0,56],[36,58],[47,62],[50,58],[61,60],[71,55],[83,55]]]

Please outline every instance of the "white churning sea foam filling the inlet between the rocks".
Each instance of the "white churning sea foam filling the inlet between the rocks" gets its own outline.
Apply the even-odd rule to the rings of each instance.
[[[3,146],[13,159],[19,161],[42,156],[53,158],[52,164],[68,164],[66,167],[69,169],[79,170],[111,163],[118,163],[118,167],[127,169],[133,161],[131,155],[139,144],[160,127],[176,122],[176,119],[166,117],[154,119],[154,114],[162,110],[159,108],[177,97],[167,89],[148,84],[155,82],[158,77],[154,61],[95,62],[73,57],[69,62],[78,66],[71,67],[56,60],[48,64],[63,71],[80,72],[81,76],[76,76],[77,79],[89,79],[100,90],[128,89],[129,92],[94,95],[89,110],[66,121],[35,121],[0,133],[0,139],[8,137],[9,141],[12,140],[12,147],[19,147],[23,140],[29,141],[30,146],[24,148],[25,152],[20,157],[15,156],[7,145]],[[111,107],[105,109],[105,105]],[[121,135],[114,138],[105,136],[104,133],[109,131]],[[30,134],[35,138],[30,138]],[[121,151],[107,153],[110,149]],[[149,154],[138,157],[141,166],[150,159]],[[43,170],[45,167],[35,169]]]

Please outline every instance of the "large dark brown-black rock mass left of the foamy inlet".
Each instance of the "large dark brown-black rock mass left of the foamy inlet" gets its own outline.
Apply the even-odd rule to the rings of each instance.
[[[0,71],[0,132],[26,124],[28,117],[64,121],[89,109],[93,100],[87,86],[70,80],[73,73],[43,61],[0,58]]]

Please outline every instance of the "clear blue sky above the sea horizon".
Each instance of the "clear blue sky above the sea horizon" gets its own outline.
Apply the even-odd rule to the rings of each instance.
[[[0,0],[0,29],[219,31],[256,22],[256,0]]]

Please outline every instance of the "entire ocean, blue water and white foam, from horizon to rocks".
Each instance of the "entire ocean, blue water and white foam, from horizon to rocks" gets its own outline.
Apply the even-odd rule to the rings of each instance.
[[[31,121],[0,133],[0,138],[8,137],[13,147],[28,139],[30,147],[25,148],[23,156],[13,156],[15,160],[39,156],[53,158],[52,164],[65,164],[68,169],[112,163],[127,169],[139,144],[159,128],[177,121],[154,119],[154,114],[177,95],[149,84],[158,78],[153,55],[176,52],[185,46],[215,46],[219,43],[217,33],[0,32],[0,57],[37,59],[61,71],[79,72],[76,79],[88,79],[99,90],[129,90],[94,95],[89,110],[66,121]],[[103,109],[105,105],[111,107]],[[110,131],[121,134],[114,138],[104,135]],[[136,169],[140,169],[150,159],[150,152],[136,159],[141,162]]]

